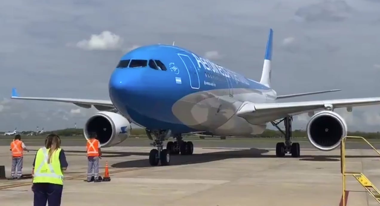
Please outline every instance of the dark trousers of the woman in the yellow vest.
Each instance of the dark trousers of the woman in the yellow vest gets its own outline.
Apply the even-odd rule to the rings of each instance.
[[[51,183],[33,183],[33,206],[60,206],[63,186]]]

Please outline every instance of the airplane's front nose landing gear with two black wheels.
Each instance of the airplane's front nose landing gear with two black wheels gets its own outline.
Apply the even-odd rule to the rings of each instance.
[[[150,150],[149,153],[149,163],[152,166],[157,166],[158,162],[161,162],[161,165],[169,165],[170,164],[170,150],[163,149],[163,141],[167,140],[171,135],[171,130],[154,130],[149,131],[146,129],[146,134],[150,139],[152,139],[153,133],[155,136],[155,140],[152,143],[153,146],[156,146],[157,149]]]

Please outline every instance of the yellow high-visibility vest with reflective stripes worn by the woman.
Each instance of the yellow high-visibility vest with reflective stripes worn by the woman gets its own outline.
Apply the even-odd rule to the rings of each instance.
[[[45,147],[38,149],[36,161],[34,163],[33,183],[52,183],[63,185],[63,173],[59,161],[59,152],[61,148],[54,151],[51,156],[50,164],[47,158],[50,149]]]

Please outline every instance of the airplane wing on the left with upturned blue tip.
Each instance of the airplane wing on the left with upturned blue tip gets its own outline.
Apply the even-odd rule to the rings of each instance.
[[[27,99],[27,100],[39,100],[39,101],[51,101],[51,102],[67,102],[73,103],[79,107],[91,108],[92,105],[100,111],[112,111],[115,110],[114,105],[109,100],[98,99],[73,99],[73,98],[55,98],[55,97],[21,97],[16,88],[12,88],[11,99]]]

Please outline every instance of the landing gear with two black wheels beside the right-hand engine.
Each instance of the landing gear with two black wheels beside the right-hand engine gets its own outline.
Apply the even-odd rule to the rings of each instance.
[[[280,124],[282,121],[285,124],[285,132],[283,132],[282,129],[280,129],[280,127],[278,126],[278,124]],[[291,121],[293,121],[293,116],[287,116],[279,122],[271,121],[272,125],[275,126],[283,135],[285,135],[285,143],[279,142],[276,145],[277,157],[284,157],[286,153],[290,153],[291,157],[299,157],[300,155],[299,143],[298,142],[292,143],[290,140]]]

